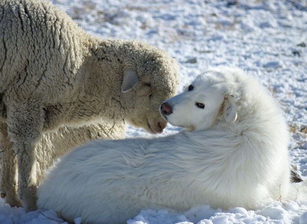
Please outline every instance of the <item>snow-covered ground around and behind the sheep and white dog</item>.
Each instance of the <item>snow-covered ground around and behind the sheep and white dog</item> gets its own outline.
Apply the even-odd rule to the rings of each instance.
[[[89,33],[140,39],[180,64],[179,91],[210,65],[247,70],[285,112],[291,163],[307,176],[306,0],[53,0]],[[164,134],[178,132],[167,126]],[[128,137],[148,136],[129,127]],[[244,184],[244,183],[242,183]],[[102,208],[103,209],[103,208]],[[114,211],[116,212],[116,211]],[[76,219],[78,224],[80,219]],[[65,223],[49,212],[11,208],[0,200],[0,224]],[[143,210],[127,224],[307,224],[307,201],[272,201],[259,210],[199,205],[182,214]]]

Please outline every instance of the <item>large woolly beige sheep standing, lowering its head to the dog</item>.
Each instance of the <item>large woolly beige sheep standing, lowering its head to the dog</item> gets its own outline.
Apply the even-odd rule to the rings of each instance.
[[[179,68],[163,50],[138,40],[89,35],[46,0],[0,1],[0,36],[0,122],[1,132],[7,131],[2,144],[8,146],[2,164],[9,163],[2,166],[1,179],[7,178],[5,170],[17,172],[8,184],[18,176],[18,199],[28,211],[35,209],[36,168],[44,161],[37,157],[44,155],[51,132],[63,140],[67,130],[56,131],[59,127],[82,136],[88,130],[78,127],[97,122],[118,127],[125,122],[152,134],[166,127],[158,109],[176,93]],[[89,128],[94,139],[95,129]],[[68,150],[61,143],[56,147],[57,155]],[[1,196],[8,193],[5,185]]]

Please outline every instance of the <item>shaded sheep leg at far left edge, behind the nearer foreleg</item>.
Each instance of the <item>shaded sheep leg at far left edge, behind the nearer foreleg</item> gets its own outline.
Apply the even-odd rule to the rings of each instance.
[[[7,135],[7,125],[0,123],[1,134],[1,177],[0,196],[10,206],[20,207],[21,202],[17,197],[17,161],[16,154],[12,148],[13,142]]]

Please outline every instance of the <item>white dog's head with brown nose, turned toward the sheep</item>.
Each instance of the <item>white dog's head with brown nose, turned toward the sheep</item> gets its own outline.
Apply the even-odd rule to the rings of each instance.
[[[232,82],[221,70],[208,70],[189,84],[181,94],[167,99],[160,107],[167,121],[188,131],[210,128],[219,120],[233,123],[237,106]]]

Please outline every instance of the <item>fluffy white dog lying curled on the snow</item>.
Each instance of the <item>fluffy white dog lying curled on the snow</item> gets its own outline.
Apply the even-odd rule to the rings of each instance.
[[[286,122],[268,91],[242,70],[209,69],[161,113],[186,131],[73,150],[46,175],[37,206],[71,222],[81,216],[83,223],[117,224],[141,209],[253,209],[288,195]]]

